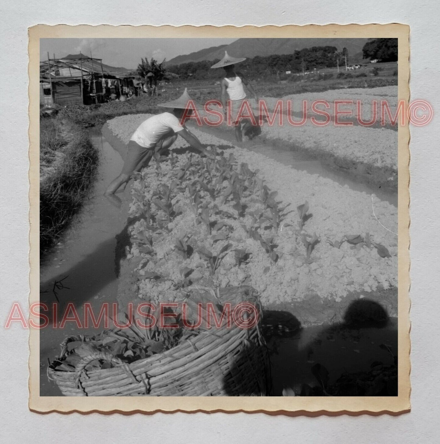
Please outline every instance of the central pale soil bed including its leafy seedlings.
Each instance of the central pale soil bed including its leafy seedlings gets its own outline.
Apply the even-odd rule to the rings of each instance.
[[[112,119],[104,135],[123,154],[148,116]],[[395,206],[194,134],[215,161],[179,138],[132,184],[117,255],[123,306],[181,301],[194,286],[251,285],[265,309],[302,326],[341,321],[357,300],[397,315]]]

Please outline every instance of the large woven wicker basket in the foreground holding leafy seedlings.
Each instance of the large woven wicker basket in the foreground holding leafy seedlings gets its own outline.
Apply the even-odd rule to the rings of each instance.
[[[248,286],[221,289],[220,294],[222,302],[258,301]],[[92,353],[74,372],[57,370],[67,343],[77,340],[67,338],[48,377],[65,396],[268,396],[270,364],[259,323],[250,329],[232,323],[229,329],[225,325],[202,331],[173,349],[131,364],[109,353]],[[114,366],[86,372],[87,364],[96,359]]]

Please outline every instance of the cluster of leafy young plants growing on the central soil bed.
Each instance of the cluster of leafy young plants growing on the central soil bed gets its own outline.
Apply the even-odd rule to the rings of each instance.
[[[132,228],[131,251],[139,252],[139,279],[150,281],[150,289],[168,282],[163,289],[185,293],[194,283],[195,268],[202,268],[203,284],[218,285],[216,277],[227,255],[234,258],[233,265],[226,267],[228,272],[252,262],[248,239],[259,244],[272,264],[278,261],[278,234],[289,226],[285,222],[289,205],[276,200],[277,192],[268,188],[258,170],[250,170],[246,163],[238,165],[233,154],[226,157],[215,147],[213,152],[213,159],[156,153],[154,170],[139,175],[132,191],[132,216],[137,222]],[[151,190],[148,184],[152,182],[156,186]],[[299,230],[307,220],[307,209],[307,203],[298,207]],[[161,249],[164,242],[170,248],[165,257],[158,258],[157,247]],[[309,257],[316,235],[308,242]],[[195,254],[200,259],[197,264],[192,261]],[[173,264],[178,276],[170,270]]]

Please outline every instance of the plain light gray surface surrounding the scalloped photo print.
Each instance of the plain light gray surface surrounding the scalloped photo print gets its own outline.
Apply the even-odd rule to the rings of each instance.
[[[436,1],[199,0],[17,2],[0,7],[2,63],[0,188],[0,442],[307,442],[428,443],[439,435],[438,119],[411,128],[412,412],[402,416],[317,418],[264,414],[38,415],[28,410],[28,331],[4,322],[28,298],[27,28],[34,24],[349,24],[411,26],[411,99],[439,107],[439,5]],[[437,136],[437,137],[436,137]],[[438,438],[437,438],[438,439]],[[158,442],[158,441],[156,441]]]

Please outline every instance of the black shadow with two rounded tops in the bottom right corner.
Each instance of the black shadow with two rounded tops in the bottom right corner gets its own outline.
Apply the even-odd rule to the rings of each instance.
[[[270,396],[397,396],[397,320],[375,301],[353,301],[343,321],[307,328],[291,313],[271,310],[262,332]],[[248,354],[245,348],[237,358],[237,372]]]

